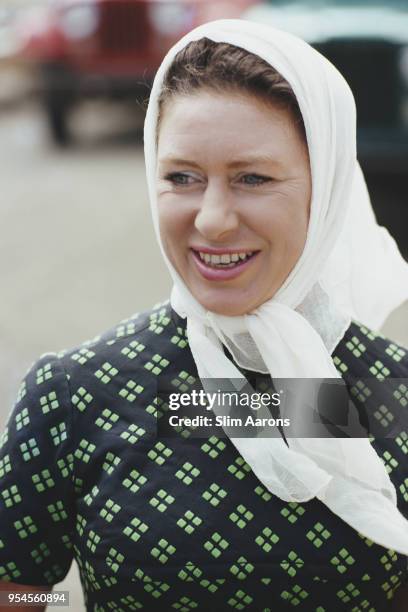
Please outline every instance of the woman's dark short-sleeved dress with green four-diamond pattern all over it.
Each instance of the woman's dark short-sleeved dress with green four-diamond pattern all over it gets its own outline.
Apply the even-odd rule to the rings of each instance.
[[[408,378],[408,350],[355,322],[333,360],[362,402],[364,378]],[[0,580],[57,584],[75,558],[94,612],[389,610],[407,558],[272,495],[228,438],[157,438],[159,378],[197,378],[168,302],[33,365],[0,438]],[[384,433],[407,398],[370,398]],[[407,432],[371,443],[408,517]]]

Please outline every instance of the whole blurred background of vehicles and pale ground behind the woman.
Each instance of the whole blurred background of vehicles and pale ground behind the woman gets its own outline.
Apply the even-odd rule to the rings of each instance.
[[[144,103],[167,49],[241,17],[348,80],[381,224],[408,254],[408,0],[0,0],[0,431],[27,368],[167,299],[144,177]],[[408,305],[383,331],[408,346]],[[75,564],[58,589],[84,610]]]

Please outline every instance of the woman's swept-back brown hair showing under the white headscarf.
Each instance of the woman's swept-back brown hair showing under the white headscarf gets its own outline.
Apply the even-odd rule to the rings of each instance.
[[[199,89],[243,92],[287,109],[306,143],[299,104],[283,76],[258,55],[209,38],[190,42],[167,70],[158,100],[157,134],[165,103],[176,95],[189,95]]]

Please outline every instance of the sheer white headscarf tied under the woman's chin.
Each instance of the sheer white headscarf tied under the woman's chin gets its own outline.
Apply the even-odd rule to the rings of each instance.
[[[207,37],[266,60],[291,85],[306,128],[312,203],[304,251],[275,296],[251,313],[206,311],[164,252],[156,201],[158,96],[175,55]],[[304,41],[269,26],[219,20],[182,38],[163,60],[145,121],[145,160],[157,239],[174,280],[171,304],[187,317],[197,371],[242,379],[243,368],[272,378],[340,378],[331,353],[351,318],[377,328],[408,298],[408,266],[372,212],[356,160],[352,93],[329,61]],[[367,438],[230,438],[269,491],[286,501],[314,497],[374,542],[408,554],[408,522],[395,488]]]

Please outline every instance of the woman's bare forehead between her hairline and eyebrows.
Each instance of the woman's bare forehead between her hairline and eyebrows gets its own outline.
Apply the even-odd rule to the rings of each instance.
[[[159,158],[182,163],[222,153],[229,166],[277,163],[297,144],[291,113],[254,96],[231,92],[177,95],[166,105],[159,130]]]

